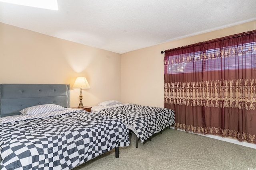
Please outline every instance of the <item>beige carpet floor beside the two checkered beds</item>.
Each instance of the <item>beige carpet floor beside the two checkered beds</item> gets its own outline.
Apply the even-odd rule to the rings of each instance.
[[[102,154],[73,170],[256,170],[256,149],[175,129]]]

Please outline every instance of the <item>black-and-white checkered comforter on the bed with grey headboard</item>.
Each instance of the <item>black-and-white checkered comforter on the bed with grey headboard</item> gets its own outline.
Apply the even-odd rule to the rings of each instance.
[[[82,110],[4,123],[0,129],[1,170],[68,170],[130,144],[122,122]]]

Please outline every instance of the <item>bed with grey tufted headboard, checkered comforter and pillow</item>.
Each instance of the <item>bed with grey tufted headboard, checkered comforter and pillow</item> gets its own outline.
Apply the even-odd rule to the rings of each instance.
[[[67,84],[0,84],[0,169],[68,170],[130,144],[121,121],[69,107]]]

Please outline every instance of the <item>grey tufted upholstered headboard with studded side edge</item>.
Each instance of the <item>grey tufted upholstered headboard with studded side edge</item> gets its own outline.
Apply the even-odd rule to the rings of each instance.
[[[69,84],[0,84],[0,117],[41,104],[70,107]]]

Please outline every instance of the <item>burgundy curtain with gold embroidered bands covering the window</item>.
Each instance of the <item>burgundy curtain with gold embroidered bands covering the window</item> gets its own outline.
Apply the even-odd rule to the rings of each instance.
[[[175,128],[256,144],[256,30],[165,51]]]

